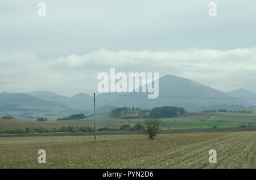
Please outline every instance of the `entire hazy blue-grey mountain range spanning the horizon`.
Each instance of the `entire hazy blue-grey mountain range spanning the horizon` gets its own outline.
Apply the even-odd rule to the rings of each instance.
[[[187,112],[198,112],[210,108],[242,108],[255,105],[255,103],[253,103],[254,100],[248,102],[247,100],[238,100],[234,97],[256,97],[255,93],[247,91],[246,89],[238,89],[234,92],[225,93],[193,80],[174,75],[165,75],[159,78],[158,98],[150,99],[147,95],[148,93],[103,93],[96,96],[96,109],[109,112],[109,110],[112,110],[113,106],[134,106],[135,108],[152,109],[156,106],[168,105],[185,108]],[[40,99],[13,101],[31,98]],[[93,96],[79,93],[72,97],[65,97],[48,91],[37,91],[27,94],[3,92],[0,93],[0,105],[3,104],[9,104],[5,108],[1,106],[3,109],[7,107],[16,109],[19,108],[17,105],[30,105],[92,111]],[[15,104],[16,106],[10,104]]]

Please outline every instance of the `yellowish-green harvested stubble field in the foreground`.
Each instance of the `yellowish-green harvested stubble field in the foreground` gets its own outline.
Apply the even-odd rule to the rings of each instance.
[[[256,168],[256,131],[0,138],[0,168]],[[46,151],[46,164],[38,151]],[[208,162],[210,149],[217,163]]]

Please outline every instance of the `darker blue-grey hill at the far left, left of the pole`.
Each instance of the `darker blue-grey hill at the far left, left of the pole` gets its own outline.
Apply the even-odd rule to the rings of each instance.
[[[0,117],[4,115],[13,115],[18,119],[47,117],[51,121],[56,118],[67,117],[70,114],[90,113],[88,110],[82,112],[72,110],[63,102],[58,103],[42,98],[25,93],[0,93]]]

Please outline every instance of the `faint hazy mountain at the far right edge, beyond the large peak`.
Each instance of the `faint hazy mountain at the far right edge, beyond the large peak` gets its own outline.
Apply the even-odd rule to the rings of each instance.
[[[228,95],[238,98],[255,98],[246,99],[250,105],[256,105],[256,93],[248,91],[247,89],[237,89],[236,91],[227,92]]]

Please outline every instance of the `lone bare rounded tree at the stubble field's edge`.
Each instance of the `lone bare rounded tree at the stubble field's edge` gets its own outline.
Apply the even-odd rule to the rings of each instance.
[[[160,119],[159,118],[146,118],[145,125],[146,129],[145,132],[148,134],[150,139],[155,139],[156,134],[158,134],[159,130]]]

